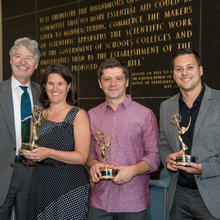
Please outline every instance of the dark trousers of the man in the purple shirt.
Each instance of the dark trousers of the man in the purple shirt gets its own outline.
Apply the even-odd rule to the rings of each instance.
[[[140,212],[107,212],[92,206],[89,208],[87,220],[146,220],[147,209]]]

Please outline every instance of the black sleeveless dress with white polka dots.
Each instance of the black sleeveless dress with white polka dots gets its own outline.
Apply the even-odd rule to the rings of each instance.
[[[73,151],[73,121],[80,108],[73,107],[63,122],[46,121],[37,130],[39,146]],[[53,159],[37,163],[30,188],[28,220],[86,219],[89,176],[82,165],[71,165]]]

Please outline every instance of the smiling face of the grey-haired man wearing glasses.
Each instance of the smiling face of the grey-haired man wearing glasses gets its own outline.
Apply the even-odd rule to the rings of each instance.
[[[34,54],[25,46],[21,45],[10,60],[12,75],[19,82],[29,81],[38,64]]]

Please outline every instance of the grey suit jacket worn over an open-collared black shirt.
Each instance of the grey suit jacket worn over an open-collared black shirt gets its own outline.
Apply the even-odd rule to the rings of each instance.
[[[210,213],[220,218],[220,91],[206,86],[196,120],[192,152],[202,164],[202,175],[194,175],[201,197]],[[180,150],[177,127],[170,117],[179,113],[179,94],[164,101],[160,107],[159,153],[164,167],[168,154]],[[169,210],[172,208],[178,172],[170,173]]]

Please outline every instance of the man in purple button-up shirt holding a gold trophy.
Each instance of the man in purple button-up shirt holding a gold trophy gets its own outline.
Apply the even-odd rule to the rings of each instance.
[[[154,113],[126,95],[129,70],[115,58],[98,69],[98,82],[106,101],[88,112],[92,145],[87,162],[94,182],[88,220],[143,220],[150,205],[150,173],[157,170],[158,126]],[[111,144],[104,151],[113,180],[100,180],[105,163],[95,139],[103,131]]]

